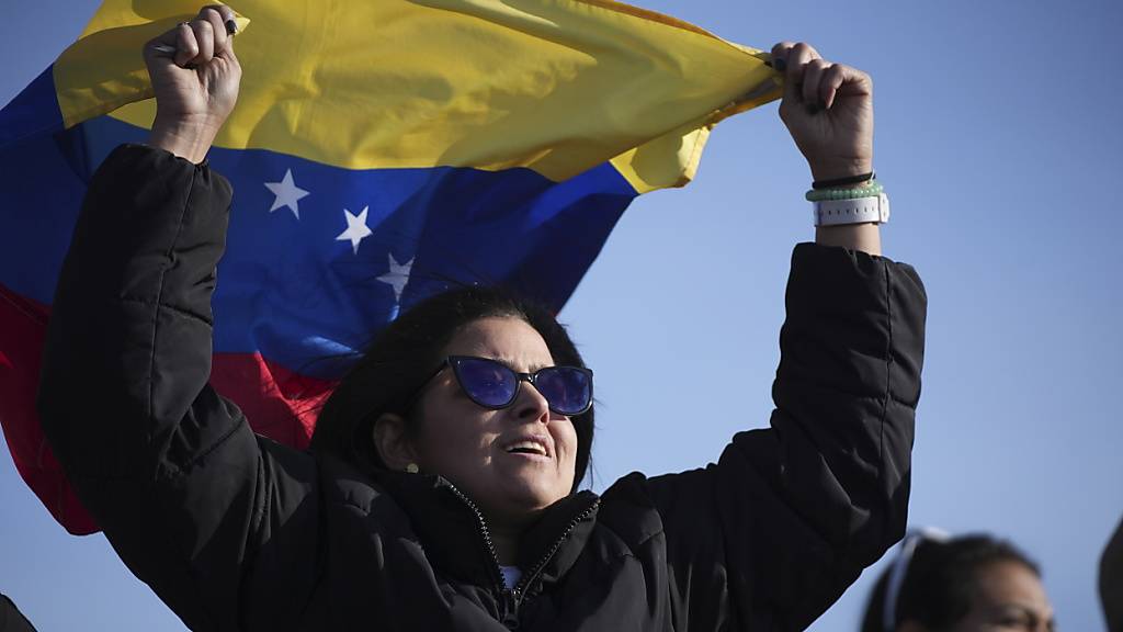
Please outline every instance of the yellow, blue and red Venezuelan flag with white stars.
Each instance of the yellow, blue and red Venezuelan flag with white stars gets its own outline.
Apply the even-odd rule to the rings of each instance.
[[[474,282],[560,309],[637,195],[685,184],[715,123],[778,96],[761,52],[610,0],[234,8],[253,24],[209,156],[235,188],[211,379],[300,448],[400,309]],[[97,525],[34,409],[51,300],[90,175],[155,115],[141,44],[198,9],[106,0],[0,111],[0,422],[73,533]]]

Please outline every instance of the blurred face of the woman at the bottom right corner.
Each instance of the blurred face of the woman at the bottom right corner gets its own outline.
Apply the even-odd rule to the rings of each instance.
[[[971,611],[953,632],[1051,632],[1052,606],[1041,579],[1024,565],[1004,561],[983,567],[975,577]]]

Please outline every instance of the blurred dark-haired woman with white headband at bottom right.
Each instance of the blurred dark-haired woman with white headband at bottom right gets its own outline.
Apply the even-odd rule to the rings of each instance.
[[[862,632],[1051,632],[1041,570],[988,535],[916,534],[877,580]]]

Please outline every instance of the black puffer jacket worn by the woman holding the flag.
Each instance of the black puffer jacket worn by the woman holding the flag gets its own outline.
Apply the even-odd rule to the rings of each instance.
[[[207,383],[229,184],[143,146],[98,171],[39,409],[125,563],[195,630],[798,630],[902,534],[925,297],[800,245],[772,428],[718,463],[559,502],[513,590],[448,482],[256,436]]]

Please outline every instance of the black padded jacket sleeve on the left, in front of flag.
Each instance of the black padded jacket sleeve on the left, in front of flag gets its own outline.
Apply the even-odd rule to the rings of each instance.
[[[193,630],[291,622],[316,577],[312,458],[257,437],[208,385],[230,197],[221,175],[161,150],[125,145],[103,162],[38,398],[83,505]]]

